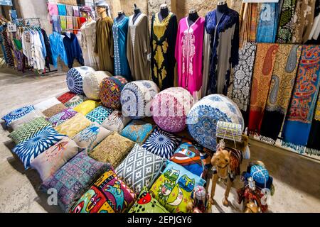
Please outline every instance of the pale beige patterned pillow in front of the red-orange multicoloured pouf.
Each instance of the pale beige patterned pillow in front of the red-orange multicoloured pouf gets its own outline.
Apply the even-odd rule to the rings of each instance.
[[[122,129],[127,126],[131,118],[123,116],[121,111],[113,111],[112,114],[101,124],[112,132],[120,133]]]

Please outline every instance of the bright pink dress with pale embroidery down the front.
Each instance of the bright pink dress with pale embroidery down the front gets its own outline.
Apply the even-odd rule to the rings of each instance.
[[[199,17],[191,26],[188,18],[179,22],[176,37],[176,62],[178,64],[178,86],[191,94],[202,87],[203,32],[205,19]]]

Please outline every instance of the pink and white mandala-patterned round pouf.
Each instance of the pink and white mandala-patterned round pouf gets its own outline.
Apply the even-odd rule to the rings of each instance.
[[[182,87],[160,92],[152,101],[154,122],[164,131],[178,133],[186,128],[186,115],[193,106],[193,96]]]

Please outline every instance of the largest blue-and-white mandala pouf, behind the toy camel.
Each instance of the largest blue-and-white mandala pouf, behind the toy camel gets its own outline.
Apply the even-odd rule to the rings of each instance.
[[[191,136],[203,147],[215,151],[218,121],[245,123],[238,106],[227,96],[211,94],[196,103],[188,113],[187,124]]]

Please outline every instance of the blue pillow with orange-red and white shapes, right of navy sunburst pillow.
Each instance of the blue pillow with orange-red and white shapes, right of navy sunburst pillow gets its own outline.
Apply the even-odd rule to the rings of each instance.
[[[170,160],[183,166],[194,175],[201,177],[204,167],[201,162],[201,155],[198,149],[201,148],[193,145],[191,141],[183,140],[183,143],[178,147]]]

